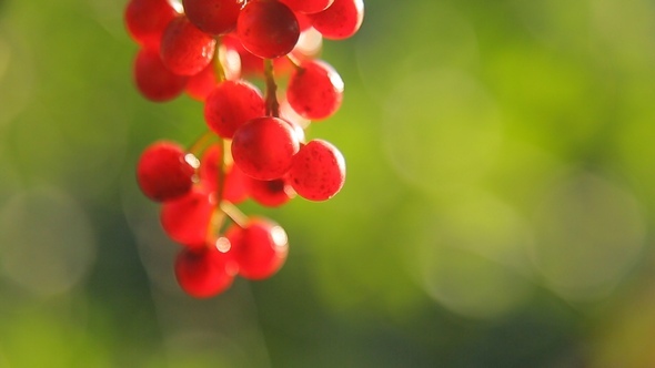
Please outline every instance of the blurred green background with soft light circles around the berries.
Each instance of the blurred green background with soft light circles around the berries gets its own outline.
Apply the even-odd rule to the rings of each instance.
[[[655,2],[367,0],[343,191],[243,205],[289,259],[209,300],[133,177],[202,105],[137,93],[123,8],[0,0],[0,367],[655,367]]]

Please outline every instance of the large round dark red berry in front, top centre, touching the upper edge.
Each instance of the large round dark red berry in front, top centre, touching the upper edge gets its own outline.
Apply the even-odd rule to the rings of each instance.
[[[236,34],[254,55],[275,59],[293,50],[300,37],[300,25],[293,11],[282,2],[252,0],[239,14]]]

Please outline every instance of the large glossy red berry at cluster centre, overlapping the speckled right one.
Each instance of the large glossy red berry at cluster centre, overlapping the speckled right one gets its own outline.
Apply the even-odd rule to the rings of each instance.
[[[243,124],[232,139],[234,164],[246,175],[271,181],[282,177],[300,143],[291,124],[279,117],[256,117]]]

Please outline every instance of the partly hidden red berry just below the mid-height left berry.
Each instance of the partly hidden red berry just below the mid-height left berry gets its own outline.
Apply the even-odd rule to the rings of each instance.
[[[163,203],[161,225],[167,235],[179,244],[204,245],[215,205],[213,194],[195,186],[187,195]]]

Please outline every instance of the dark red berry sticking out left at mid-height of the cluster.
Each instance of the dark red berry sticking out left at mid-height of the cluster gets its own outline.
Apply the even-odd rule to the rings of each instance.
[[[137,165],[137,182],[143,194],[155,202],[172,201],[191,191],[198,159],[173,142],[148,146]]]

